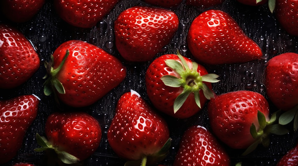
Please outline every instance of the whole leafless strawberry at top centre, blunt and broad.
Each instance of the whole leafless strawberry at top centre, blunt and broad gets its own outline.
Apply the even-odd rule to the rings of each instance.
[[[178,16],[167,9],[131,7],[115,20],[115,42],[128,61],[148,61],[167,45],[178,30]]]

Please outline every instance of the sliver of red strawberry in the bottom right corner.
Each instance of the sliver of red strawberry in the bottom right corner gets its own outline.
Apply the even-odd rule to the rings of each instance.
[[[297,166],[298,165],[298,145],[289,150],[277,163],[276,166]]]

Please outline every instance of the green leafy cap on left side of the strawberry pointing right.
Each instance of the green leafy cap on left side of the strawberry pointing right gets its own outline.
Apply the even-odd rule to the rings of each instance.
[[[56,89],[58,93],[65,94],[64,87],[61,84],[61,82],[56,78],[56,75],[61,70],[68,55],[69,55],[69,50],[66,50],[66,53],[65,53],[65,56],[64,56],[62,62],[56,69],[53,68],[53,63],[54,63],[53,55],[51,55],[51,60],[49,61],[49,63],[45,62],[45,67],[46,67],[46,71],[47,71],[46,76],[44,76],[44,79],[47,78],[46,81],[44,82],[44,94],[45,95],[47,95],[47,96],[51,95],[53,92],[53,89]]]

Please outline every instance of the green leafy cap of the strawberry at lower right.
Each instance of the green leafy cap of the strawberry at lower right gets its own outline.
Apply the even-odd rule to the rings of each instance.
[[[280,111],[274,112],[271,115],[271,119],[269,121],[266,121],[264,114],[261,111],[258,111],[257,118],[260,128],[257,131],[254,124],[252,124],[250,127],[250,133],[256,141],[251,146],[249,146],[246,151],[244,151],[244,153],[242,154],[243,156],[254,151],[254,149],[256,149],[260,143],[263,146],[268,147],[270,143],[270,140],[268,138],[269,134],[285,135],[289,133],[288,129],[286,129],[283,125],[277,123],[277,119],[279,116]]]

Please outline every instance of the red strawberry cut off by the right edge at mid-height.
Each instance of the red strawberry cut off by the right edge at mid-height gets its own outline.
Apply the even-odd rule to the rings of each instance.
[[[266,92],[278,108],[287,111],[298,104],[298,54],[284,53],[266,66]]]

